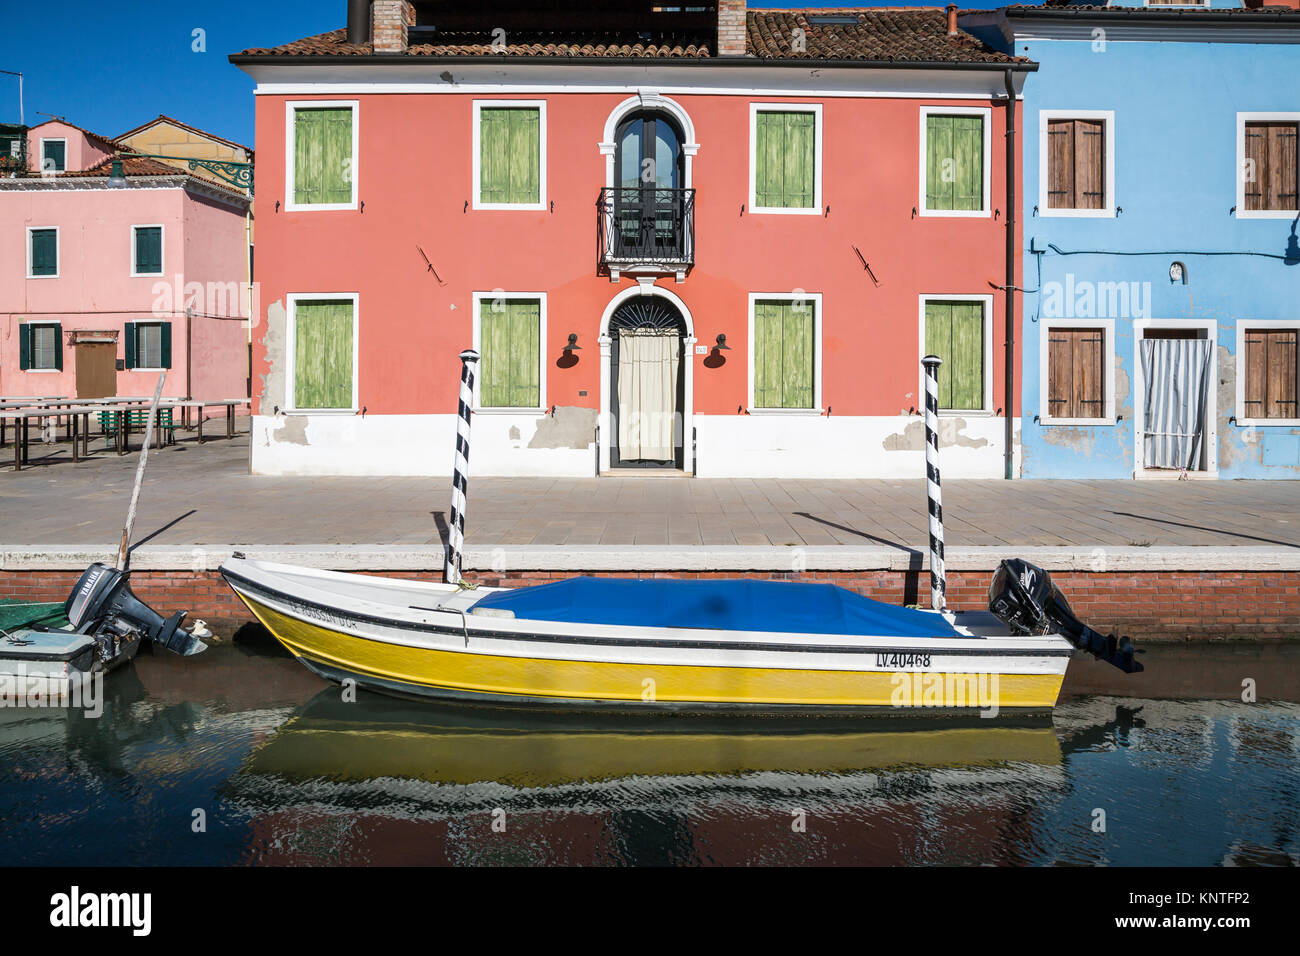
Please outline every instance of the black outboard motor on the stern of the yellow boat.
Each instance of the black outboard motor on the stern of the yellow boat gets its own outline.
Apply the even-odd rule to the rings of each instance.
[[[1131,640],[1101,635],[1074,617],[1052,575],[1023,558],[1010,558],[998,566],[988,588],[988,609],[1013,633],[1061,633],[1080,650],[1124,674],[1143,670],[1141,662],[1134,659]]]

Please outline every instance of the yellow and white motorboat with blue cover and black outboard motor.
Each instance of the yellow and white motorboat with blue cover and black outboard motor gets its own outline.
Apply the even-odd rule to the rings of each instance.
[[[1050,710],[1082,648],[1045,571],[1002,562],[988,611],[872,601],[831,584],[573,578],[463,588],[251,561],[221,567],[256,618],[335,683],[493,704],[744,713]]]

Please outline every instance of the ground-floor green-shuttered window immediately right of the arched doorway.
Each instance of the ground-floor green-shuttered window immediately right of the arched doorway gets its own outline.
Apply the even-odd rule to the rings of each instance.
[[[751,412],[822,412],[822,297],[751,294]]]

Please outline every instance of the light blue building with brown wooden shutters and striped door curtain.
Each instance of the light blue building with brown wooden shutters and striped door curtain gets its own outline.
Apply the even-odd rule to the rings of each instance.
[[[1300,477],[1300,10],[962,14],[1020,122],[1024,477]]]

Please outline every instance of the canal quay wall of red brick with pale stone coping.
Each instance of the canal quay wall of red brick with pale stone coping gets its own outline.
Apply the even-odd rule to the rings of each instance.
[[[441,580],[441,546],[157,545],[133,551],[135,592],[159,613],[186,610],[233,631],[251,620],[217,568],[234,551],[259,561],[413,580]],[[1075,613],[1101,631],[1147,641],[1300,640],[1300,548],[949,548],[948,602],[985,606],[998,562],[1022,557],[1052,572]],[[62,601],[108,545],[0,545],[0,600]],[[824,546],[480,545],[465,580],[525,587],[580,574],[620,578],[754,576],[838,584],[880,601],[924,605],[923,550]]]

